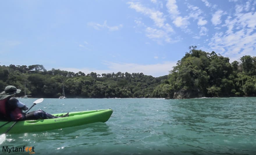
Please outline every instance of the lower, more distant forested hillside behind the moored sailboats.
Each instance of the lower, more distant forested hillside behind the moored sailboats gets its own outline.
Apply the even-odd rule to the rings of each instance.
[[[22,90],[16,97],[24,96],[25,83],[26,95],[32,97],[58,98],[63,85],[67,98],[152,97],[154,87],[166,79],[167,75],[155,78],[143,73],[47,71],[42,65],[0,66],[0,90],[14,85]]]

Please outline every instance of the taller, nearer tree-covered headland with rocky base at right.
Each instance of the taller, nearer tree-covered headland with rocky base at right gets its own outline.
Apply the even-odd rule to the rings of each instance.
[[[256,95],[256,57],[243,56],[240,61],[202,50],[196,46],[177,62],[168,80],[158,85],[153,97],[185,99],[195,97],[229,97]]]

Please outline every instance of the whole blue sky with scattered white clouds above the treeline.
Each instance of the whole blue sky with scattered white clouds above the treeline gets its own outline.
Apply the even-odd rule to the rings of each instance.
[[[256,56],[255,0],[0,2],[0,65],[167,75],[189,46]]]

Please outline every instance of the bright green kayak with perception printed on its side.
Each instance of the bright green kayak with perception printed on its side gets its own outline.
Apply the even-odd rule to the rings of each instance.
[[[19,121],[8,133],[26,133],[39,132],[53,129],[61,129],[64,127],[73,127],[83,124],[106,122],[110,118],[113,110],[93,110],[83,112],[70,112],[68,117]],[[53,114],[54,116],[63,116],[66,113]],[[0,121],[0,126],[6,122]],[[0,134],[6,132],[14,122],[10,122],[0,128]]]

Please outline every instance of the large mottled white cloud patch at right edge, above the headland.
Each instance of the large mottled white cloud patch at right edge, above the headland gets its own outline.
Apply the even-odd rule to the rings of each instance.
[[[219,51],[230,61],[238,60],[244,55],[255,56],[256,52],[256,13],[238,13],[234,17],[227,17],[223,27],[225,33],[215,33],[209,42],[211,50]],[[239,29],[237,29],[239,28]]]

